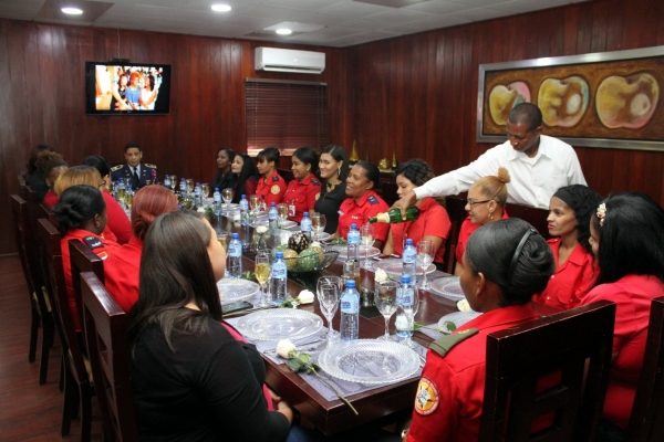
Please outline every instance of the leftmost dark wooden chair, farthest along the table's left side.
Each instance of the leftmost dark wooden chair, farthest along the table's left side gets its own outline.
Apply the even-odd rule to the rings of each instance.
[[[39,385],[46,381],[49,370],[49,354],[53,347],[53,337],[55,335],[55,324],[51,311],[51,303],[44,294],[43,277],[41,276],[39,265],[39,254],[34,249],[32,234],[30,231],[28,203],[20,197],[12,194],[11,211],[14,220],[14,238],[17,249],[21,259],[21,266],[28,283],[28,294],[30,296],[30,346],[28,350],[28,361],[34,362],[37,355],[37,343],[39,338],[39,326],[42,326],[42,346],[39,367]]]

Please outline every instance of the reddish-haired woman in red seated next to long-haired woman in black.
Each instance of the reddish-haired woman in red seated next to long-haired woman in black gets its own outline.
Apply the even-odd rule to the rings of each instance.
[[[175,210],[178,210],[177,198],[164,186],[145,186],[134,196],[129,242],[104,263],[104,285],[125,312],[138,299],[138,267],[145,233],[155,218]]]

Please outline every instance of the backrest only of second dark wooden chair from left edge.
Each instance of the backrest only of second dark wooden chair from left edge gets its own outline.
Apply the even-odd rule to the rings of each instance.
[[[69,355],[71,368],[80,379],[87,377],[83,361],[83,352],[77,337],[74,318],[70,309],[70,301],[64,283],[60,232],[46,219],[40,219],[39,244],[42,250],[42,265],[49,275],[49,293],[52,296],[53,312],[63,355]]]

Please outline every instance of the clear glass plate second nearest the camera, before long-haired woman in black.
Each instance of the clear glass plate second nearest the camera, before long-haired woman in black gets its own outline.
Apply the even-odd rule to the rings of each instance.
[[[305,311],[273,308],[251,313],[238,320],[237,329],[251,340],[302,339],[323,328],[323,319]]]

